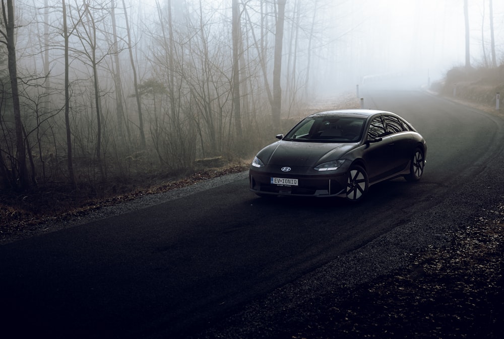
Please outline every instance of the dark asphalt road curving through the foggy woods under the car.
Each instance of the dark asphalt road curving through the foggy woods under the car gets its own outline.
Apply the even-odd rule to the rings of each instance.
[[[261,199],[247,179],[0,246],[7,337],[182,337],[428,211],[500,150],[502,122],[417,91],[376,92],[425,137],[419,183],[368,199]],[[279,131],[285,132],[285,131]]]

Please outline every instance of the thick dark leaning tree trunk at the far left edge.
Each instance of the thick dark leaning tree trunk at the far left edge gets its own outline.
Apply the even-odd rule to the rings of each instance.
[[[18,162],[18,188],[25,190],[28,188],[28,170],[26,167],[26,147],[23,137],[23,123],[21,121],[21,108],[19,105],[19,91],[18,91],[18,75],[16,65],[16,46],[14,39],[14,7],[12,0],[7,0],[7,14],[5,11],[5,3],[2,0],[2,12],[4,16],[4,23],[6,25],[7,35],[7,51],[8,51],[8,67],[9,76],[11,80],[12,102],[14,123],[16,128],[16,156]]]

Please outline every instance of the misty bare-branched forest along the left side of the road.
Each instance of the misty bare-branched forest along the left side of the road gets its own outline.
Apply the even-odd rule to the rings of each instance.
[[[253,157],[324,89],[369,71],[375,46],[350,37],[361,5],[2,0],[0,190],[107,195]],[[496,67],[493,27],[492,55]]]

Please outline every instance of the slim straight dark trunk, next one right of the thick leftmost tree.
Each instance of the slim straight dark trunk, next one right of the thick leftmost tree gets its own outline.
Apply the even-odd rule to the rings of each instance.
[[[74,163],[72,156],[72,132],[70,130],[70,90],[69,90],[69,59],[68,59],[68,48],[69,48],[69,34],[67,25],[67,5],[65,0],[61,0],[63,7],[63,35],[65,39],[65,128],[67,131],[67,168],[70,177],[70,184],[76,190],[77,183],[74,176]]]

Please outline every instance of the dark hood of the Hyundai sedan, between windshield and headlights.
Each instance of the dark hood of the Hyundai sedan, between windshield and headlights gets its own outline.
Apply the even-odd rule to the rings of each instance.
[[[340,159],[357,146],[357,143],[280,140],[263,148],[257,156],[267,165],[315,166]]]

